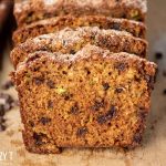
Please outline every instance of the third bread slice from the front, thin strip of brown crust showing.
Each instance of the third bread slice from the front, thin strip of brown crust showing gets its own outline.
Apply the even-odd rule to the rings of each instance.
[[[126,20],[114,19],[110,17],[86,15],[86,17],[55,17],[51,19],[41,20],[31,23],[27,27],[18,29],[13,33],[14,44],[25,42],[30,38],[34,38],[41,34],[53,33],[60,31],[66,27],[98,27],[100,29],[114,29],[120,31],[126,31],[137,38],[145,38],[146,28],[144,23]]]

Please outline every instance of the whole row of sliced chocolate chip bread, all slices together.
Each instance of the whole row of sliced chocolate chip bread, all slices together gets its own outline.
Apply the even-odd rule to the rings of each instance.
[[[156,64],[146,0],[24,0],[11,77],[32,153],[141,145]]]

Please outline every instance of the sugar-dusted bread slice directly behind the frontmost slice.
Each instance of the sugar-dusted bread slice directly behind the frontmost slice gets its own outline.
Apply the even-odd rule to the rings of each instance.
[[[107,49],[111,52],[135,53],[146,56],[147,42],[131,33],[116,30],[100,30],[94,27],[64,29],[58,33],[40,35],[18,45],[11,52],[11,60],[17,68],[29,53],[45,50],[49,52],[75,53],[87,43]]]

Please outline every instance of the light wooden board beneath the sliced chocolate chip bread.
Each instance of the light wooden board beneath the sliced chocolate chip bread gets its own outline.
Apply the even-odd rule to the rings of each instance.
[[[8,128],[0,133],[0,166],[166,166],[166,14],[165,0],[151,0],[148,11],[149,59],[155,61],[154,53],[162,51],[164,58],[158,60],[159,74],[152,97],[152,112],[143,145],[132,152],[115,149],[76,149],[66,148],[59,155],[37,155],[24,149],[21,137],[21,122],[19,108],[7,113]],[[9,51],[6,52],[3,71],[0,73],[0,83],[9,79],[12,70]],[[14,89],[6,91],[17,97]],[[7,155],[2,160],[2,153]]]

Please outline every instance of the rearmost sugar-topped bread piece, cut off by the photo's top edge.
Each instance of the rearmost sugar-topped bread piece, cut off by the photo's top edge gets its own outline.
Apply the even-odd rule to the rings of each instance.
[[[15,3],[18,25],[59,15],[105,15],[144,21],[146,0],[24,0]]]

